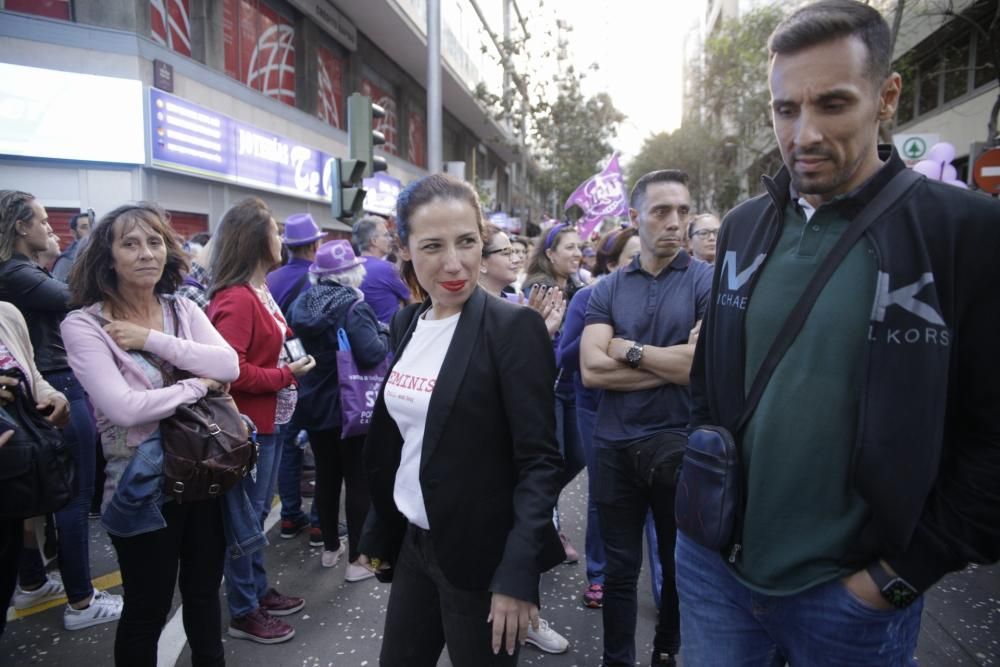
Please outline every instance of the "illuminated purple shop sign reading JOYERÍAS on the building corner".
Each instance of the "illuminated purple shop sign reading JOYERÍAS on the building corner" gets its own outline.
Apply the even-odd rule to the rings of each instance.
[[[149,89],[152,166],[330,201],[333,156]]]

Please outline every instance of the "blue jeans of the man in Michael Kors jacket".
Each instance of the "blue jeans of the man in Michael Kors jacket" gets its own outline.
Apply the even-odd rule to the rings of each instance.
[[[686,665],[915,665],[923,597],[874,609],[839,579],[793,595],[757,593],[722,557],[677,534],[677,589]]]

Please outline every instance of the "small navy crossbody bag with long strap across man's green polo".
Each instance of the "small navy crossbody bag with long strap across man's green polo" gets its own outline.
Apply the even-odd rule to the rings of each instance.
[[[778,362],[802,330],[816,299],[837,266],[865,230],[920,180],[920,175],[911,169],[900,171],[837,240],[775,336],[750,385],[743,412],[735,427],[730,431],[720,425],[700,426],[688,434],[674,505],[677,529],[704,547],[728,551],[730,563],[736,562],[743,549],[743,513],[746,507],[743,464],[739,442],[734,434],[742,432],[750,421]]]

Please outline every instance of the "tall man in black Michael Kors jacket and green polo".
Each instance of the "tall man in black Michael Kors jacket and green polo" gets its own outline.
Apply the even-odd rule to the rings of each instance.
[[[817,266],[905,168],[877,145],[901,89],[889,42],[853,0],[772,34],[785,167],[723,224],[695,425],[735,427]],[[998,219],[989,197],[920,180],[840,263],[736,434],[742,548],[678,536],[686,662],[908,664],[922,592],[998,558]]]

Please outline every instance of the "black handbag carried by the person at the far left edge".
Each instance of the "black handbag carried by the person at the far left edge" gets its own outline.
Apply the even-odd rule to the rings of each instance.
[[[27,519],[60,510],[77,491],[76,467],[63,434],[35,407],[20,370],[0,375],[19,381],[8,388],[14,401],[0,408],[0,423],[14,431],[0,446],[0,517]]]

